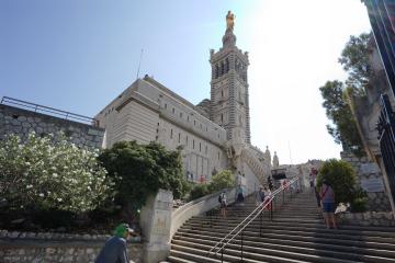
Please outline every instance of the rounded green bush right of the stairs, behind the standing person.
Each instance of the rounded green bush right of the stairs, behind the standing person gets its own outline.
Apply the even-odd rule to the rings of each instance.
[[[335,192],[335,203],[351,203],[354,196],[356,172],[348,162],[330,159],[318,171],[317,186],[327,180]]]

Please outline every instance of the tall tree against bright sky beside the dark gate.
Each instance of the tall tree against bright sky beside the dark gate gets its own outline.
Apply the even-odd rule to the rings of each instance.
[[[339,62],[349,73],[346,84],[341,81],[327,81],[320,87],[326,115],[332,121],[327,125],[328,133],[343,150],[360,157],[364,155],[363,144],[357,128],[356,118],[349,105],[348,95],[363,96],[369,85],[371,70],[369,67],[369,34],[351,36],[341,53]]]

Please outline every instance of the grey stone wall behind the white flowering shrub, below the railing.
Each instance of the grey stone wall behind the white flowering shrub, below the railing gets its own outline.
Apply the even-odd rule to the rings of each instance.
[[[55,137],[61,130],[71,142],[90,148],[101,148],[104,136],[100,127],[0,104],[0,139],[9,134],[25,139],[33,130],[40,136]]]

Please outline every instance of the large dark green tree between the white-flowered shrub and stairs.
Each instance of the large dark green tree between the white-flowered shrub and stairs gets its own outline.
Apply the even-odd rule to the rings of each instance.
[[[185,193],[180,151],[166,150],[156,142],[120,141],[104,150],[99,160],[115,181],[115,201],[127,217],[136,216],[159,188],[172,191],[174,198]]]

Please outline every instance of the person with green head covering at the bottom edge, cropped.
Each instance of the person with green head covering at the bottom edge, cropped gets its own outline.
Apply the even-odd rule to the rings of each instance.
[[[126,239],[133,232],[127,224],[119,225],[114,230],[114,237],[105,242],[94,263],[129,263]]]

